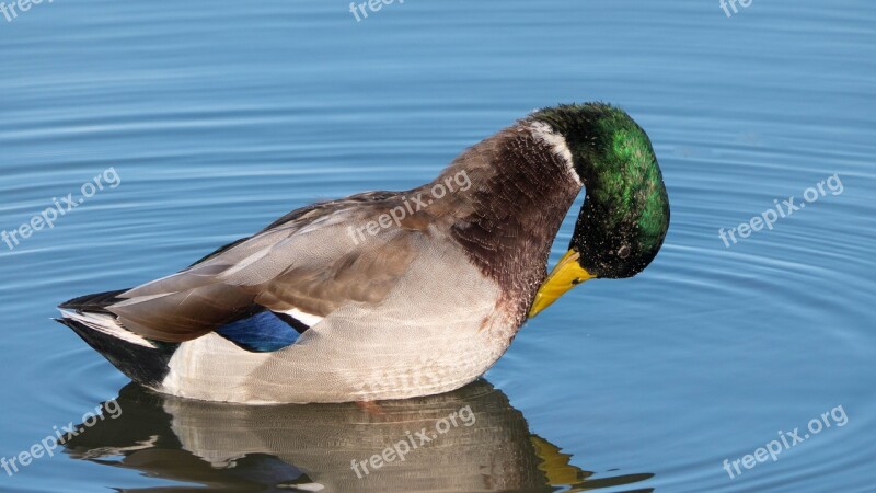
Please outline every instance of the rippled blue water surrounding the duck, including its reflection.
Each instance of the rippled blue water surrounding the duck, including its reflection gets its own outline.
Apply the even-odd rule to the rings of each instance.
[[[118,177],[0,243],[0,456],[122,410],[0,470],[0,491],[876,491],[876,4],[737,8],[408,0],[357,22],[341,0],[58,0],[0,16],[0,229]],[[529,322],[485,381],[381,414],[191,402],[128,385],[50,320],[592,100],[650,135],[667,244],[641,276]],[[799,210],[740,238],[792,196]],[[350,469],[466,405],[471,426]]]

